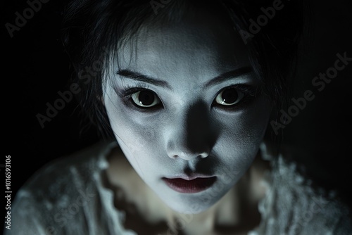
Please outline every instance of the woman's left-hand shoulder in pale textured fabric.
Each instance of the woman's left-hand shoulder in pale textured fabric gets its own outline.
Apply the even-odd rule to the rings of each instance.
[[[106,167],[103,156],[113,146],[98,143],[38,170],[13,200],[9,234],[55,234],[68,227],[84,234],[79,224],[86,224],[87,215],[99,208],[97,182]]]

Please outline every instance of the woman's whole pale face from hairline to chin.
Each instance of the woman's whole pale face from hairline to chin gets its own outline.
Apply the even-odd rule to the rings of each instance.
[[[111,127],[170,208],[202,212],[248,170],[270,99],[239,35],[210,14],[143,27],[134,39],[118,51],[104,87]]]

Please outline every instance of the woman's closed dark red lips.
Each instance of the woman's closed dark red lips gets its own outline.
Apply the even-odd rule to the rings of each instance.
[[[208,189],[216,181],[216,177],[197,177],[194,179],[163,178],[165,183],[179,193],[199,193]]]

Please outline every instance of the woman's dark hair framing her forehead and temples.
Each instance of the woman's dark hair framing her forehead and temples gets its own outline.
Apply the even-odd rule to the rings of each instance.
[[[281,4],[281,8],[271,12],[269,18],[265,14],[270,16],[274,4]],[[296,70],[303,1],[73,0],[64,12],[63,44],[75,70],[73,82],[82,89],[78,94],[80,104],[99,132],[113,136],[99,99],[103,93],[103,68],[111,56],[108,52],[127,42],[142,25],[175,21],[191,8],[196,11],[206,7],[212,11],[216,8],[230,20],[248,46],[254,72],[264,83],[263,92],[277,108],[284,106],[288,84]],[[260,15],[265,15],[261,18],[266,17],[268,22],[259,25],[259,32],[253,32],[253,22],[258,24]]]

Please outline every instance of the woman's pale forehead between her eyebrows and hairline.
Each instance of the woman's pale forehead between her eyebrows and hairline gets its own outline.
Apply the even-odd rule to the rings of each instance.
[[[249,66],[232,25],[201,11],[178,23],[144,25],[118,50],[114,70],[132,70],[171,82],[200,80]]]

